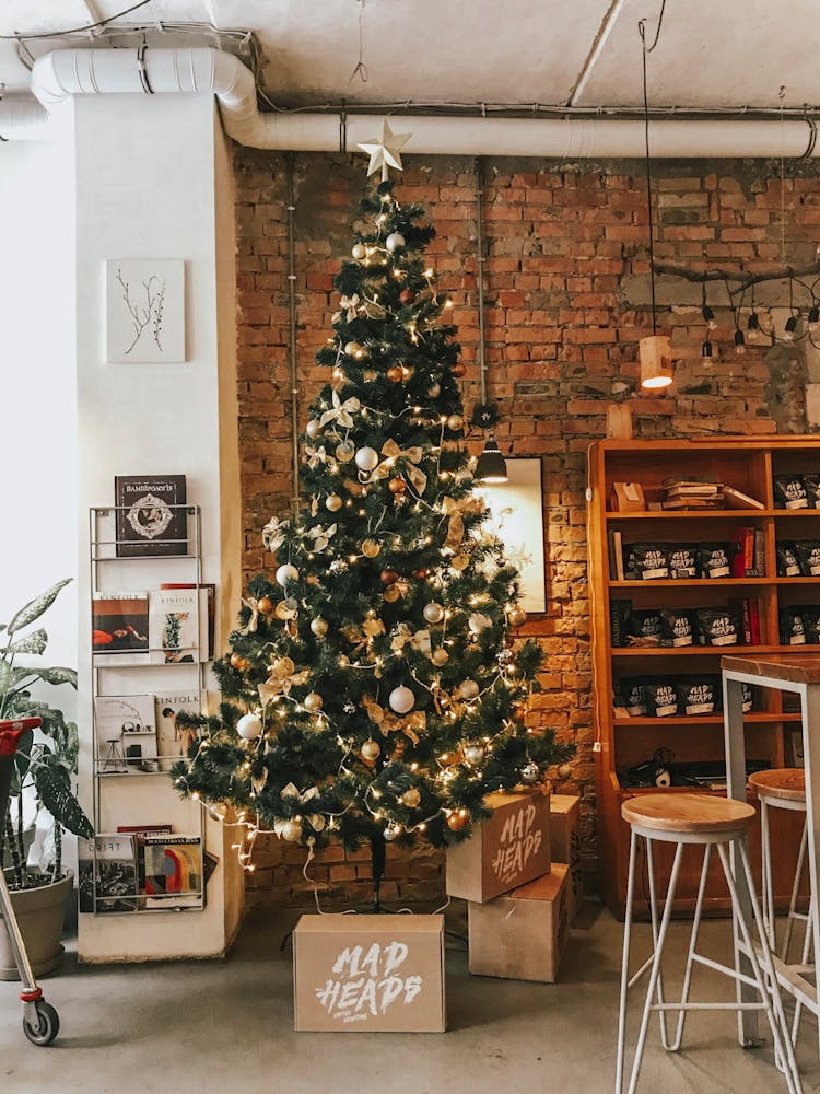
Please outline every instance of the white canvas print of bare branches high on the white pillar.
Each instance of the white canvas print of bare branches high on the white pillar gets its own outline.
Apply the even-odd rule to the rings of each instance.
[[[185,263],[106,263],[106,360],[185,360]]]

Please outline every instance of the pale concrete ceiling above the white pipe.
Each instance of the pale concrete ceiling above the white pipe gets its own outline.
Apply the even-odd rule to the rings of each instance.
[[[128,7],[129,0],[4,0],[0,34],[48,34]],[[652,40],[660,7],[661,0],[151,0],[109,30],[200,22],[253,31],[267,94],[289,106],[411,100],[635,108],[642,105],[637,22],[646,19]],[[353,74],[360,20],[366,81]],[[159,40],[181,44],[171,33]],[[35,56],[83,44],[87,36],[28,42]],[[817,0],[667,0],[648,57],[649,104],[813,107],[818,56]],[[0,43],[0,81],[9,90],[26,86],[13,42]]]

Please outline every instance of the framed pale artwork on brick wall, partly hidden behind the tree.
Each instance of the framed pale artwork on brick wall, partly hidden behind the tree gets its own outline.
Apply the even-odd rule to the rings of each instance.
[[[520,571],[522,607],[546,612],[541,461],[507,456],[506,465],[506,482],[477,488],[492,514],[485,526],[504,543],[507,558]]]

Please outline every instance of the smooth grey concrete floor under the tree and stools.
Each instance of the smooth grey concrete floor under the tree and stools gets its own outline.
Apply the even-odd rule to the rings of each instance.
[[[464,930],[457,903],[453,926]],[[15,986],[0,982],[0,1092],[45,1094],[609,1094],[613,1089],[621,926],[587,903],[557,985],[471,977],[457,941],[447,952],[446,1034],[295,1034],[289,922],[254,912],[224,962],[78,966],[72,952],[44,981],[60,1012],[50,1048],[30,1045]],[[641,928],[644,935],[647,928]],[[672,929],[670,961],[686,944]],[[729,924],[708,922],[704,950],[729,954]],[[714,946],[714,948],[710,948]],[[721,953],[723,951],[723,953]],[[703,969],[695,985],[729,981]],[[667,993],[678,981],[669,967]],[[733,1014],[692,1014],[671,1056],[652,1027],[640,1091],[664,1094],[785,1091],[770,1039],[738,1047]],[[816,1025],[798,1059],[820,1091]]]

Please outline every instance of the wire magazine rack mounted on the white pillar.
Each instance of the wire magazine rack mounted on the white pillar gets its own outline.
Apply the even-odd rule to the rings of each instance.
[[[187,752],[174,700],[198,711],[206,702],[213,586],[202,583],[199,508],[169,508],[185,538],[163,538],[156,554],[118,538],[125,507],[90,511],[96,837],[81,847],[80,911],[106,918],[204,908],[204,813],[177,796],[168,771]],[[157,614],[168,597],[186,610]],[[149,792],[165,790],[167,794]]]

